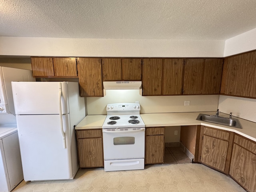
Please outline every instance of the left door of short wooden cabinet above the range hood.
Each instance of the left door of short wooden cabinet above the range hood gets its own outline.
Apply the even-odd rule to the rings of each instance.
[[[103,58],[102,77],[105,80],[122,80],[121,59]]]

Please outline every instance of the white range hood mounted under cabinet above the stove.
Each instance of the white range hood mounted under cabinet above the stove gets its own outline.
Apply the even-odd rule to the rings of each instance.
[[[104,81],[105,90],[141,89],[141,81]]]

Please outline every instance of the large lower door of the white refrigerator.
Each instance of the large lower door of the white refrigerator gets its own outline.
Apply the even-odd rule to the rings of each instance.
[[[69,116],[63,115],[66,148],[59,115],[18,115],[16,118],[24,180],[72,179]]]

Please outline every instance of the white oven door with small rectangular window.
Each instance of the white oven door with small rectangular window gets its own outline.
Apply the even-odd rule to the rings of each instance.
[[[144,158],[145,128],[103,129],[104,160]]]

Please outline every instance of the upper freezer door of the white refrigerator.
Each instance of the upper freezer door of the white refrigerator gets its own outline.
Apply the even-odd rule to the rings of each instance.
[[[60,104],[62,114],[68,114],[67,84],[68,82],[12,82],[16,114],[60,114]]]

